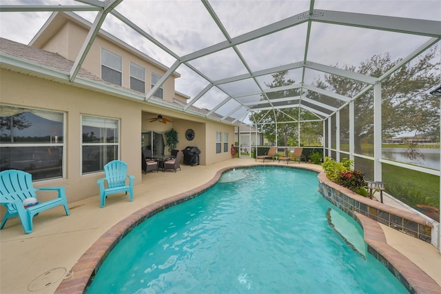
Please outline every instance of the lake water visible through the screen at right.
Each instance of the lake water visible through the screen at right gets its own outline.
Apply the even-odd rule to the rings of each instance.
[[[407,148],[383,148],[382,157],[393,161],[399,161],[404,164],[413,164],[424,168],[433,168],[440,170],[440,150],[439,149],[419,149],[424,158],[411,160],[406,155]]]

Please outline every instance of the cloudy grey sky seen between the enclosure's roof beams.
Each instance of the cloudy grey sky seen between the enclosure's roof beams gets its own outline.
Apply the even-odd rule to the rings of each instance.
[[[208,3],[230,38],[309,10],[309,1],[222,0]],[[83,5],[72,0],[0,0],[0,4],[2,6]],[[316,0],[314,9],[441,21],[440,0]],[[222,31],[201,1],[124,0],[116,10],[180,57],[225,41]],[[78,12],[78,14],[92,22],[96,12]],[[0,37],[27,44],[49,16],[50,12],[0,12]],[[136,32],[111,14],[107,15],[102,28],[165,66],[172,66],[176,61],[161,48],[139,37]],[[232,48],[189,61],[189,64],[209,79],[216,81],[243,75],[249,70],[254,72],[303,61],[306,39],[307,23],[302,23],[238,45],[237,50],[245,60],[245,64]],[[390,53],[392,59],[407,57],[428,39],[428,37],[397,32],[314,22],[311,26],[307,60],[327,66],[358,66],[373,55],[383,55],[386,52]],[[207,79],[200,77],[185,65],[181,65],[177,72],[181,77],[176,79],[176,90],[189,97],[195,97],[209,84]],[[302,70],[290,70],[289,77],[300,82]],[[305,83],[312,84],[320,77],[322,77],[320,72],[306,70]],[[225,84],[220,88],[212,88],[194,105],[212,109],[214,105],[227,98],[227,94],[243,95],[259,91],[259,86],[267,88],[265,84],[270,84],[272,77],[266,75],[258,77],[257,80],[259,85],[255,81],[244,80]],[[216,112],[226,115],[238,105],[237,101],[231,100]],[[240,113],[234,113],[232,116],[239,115]]]

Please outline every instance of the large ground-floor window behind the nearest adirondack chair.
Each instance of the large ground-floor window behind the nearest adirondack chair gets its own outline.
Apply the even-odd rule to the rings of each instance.
[[[0,105],[0,171],[23,170],[32,180],[63,177],[63,112]]]

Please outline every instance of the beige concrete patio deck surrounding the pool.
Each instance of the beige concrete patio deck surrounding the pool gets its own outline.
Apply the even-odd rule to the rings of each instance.
[[[8,220],[0,231],[0,293],[54,293],[81,255],[121,219],[143,206],[209,182],[222,168],[253,164],[263,163],[230,159],[210,166],[181,166],[177,173],[150,172],[143,175],[142,184],[134,187],[134,202],[127,196],[115,195],[106,200],[105,208],[100,208],[97,189],[96,197],[70,203],[69,217],[61,206],[41,213],[34,219],[34,233],[29,235],[23,233],[18,219]],[[300,167],[321,170],[314,164]],[[389,199],[384,202],[399,205],[389,203]],[[387,226],[381,227],[389,245],[441,285],[441,255],[435,247]]]

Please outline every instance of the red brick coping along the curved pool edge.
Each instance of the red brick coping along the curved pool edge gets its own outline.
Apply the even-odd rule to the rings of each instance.
[[[59,284],[56,294],[80,294],[86,290],[86,287],[92,282],[94,275],[99,271],[99,267],[103,264],[105,257],[112,251],[112,248],[118,244],[127,233],[130,233],[132,229],[145,219],[152,217],[156,213],[161,212],[171,206],[175,206],[177,204],[181,204],[189,199],[197,197],[201,195],[203,192],[214,186],[220,175],[224,173],[226,170],[231,170],[233,168],[251,168],[252,166],[231,166],[228,168],[223,168],[218,170],[216,175],[209,182],[198,186],[192,190],[188,190],[187,192],[174,195],[167,199],[160,200],[155,202],[154,204],[150,204],[136,211],[132,215],[126,217],[121,220],[118,224],[115,224],[112,228],[109,229],[106,233],[104,233],[92,246],[86,251],[80,259],[76,262],[76,264],[72,267],[72,269],[68,272],[68,275],[63,279],[61,284]],[[265,165],[269,166],[269,165]],[[280,165],[274,165],[278,167],[282,167]],[[298,166],[287,166],[286,168],[305,168]],[[308,169],[308,168],[305,168]],[[316,170],[314,170],[316,171]],[[363,220],[361,220],[363,219]],[[371,244],[371,248],[375,248],[375,251],[380,254],[382,257],[387,259],[387,262],[393,264],[394,268],[398,271],[403,271],[402,276],[410,280],[409,284],[417,291],[417,293],[441,293],[441,287],[436,284],[430,277],[428,277],[424,272],[420,270],[417,266],[409,261],[406,257],[395,251],[389,245],[385,244],[384,234],[382,235],[382,242],[376,240],[375,238],[369,236],[378,235],[378,233],[371,233],[371,228],[377,229],[373,226],[369,219],[366,220],[363,217],[360,217],[360,222],[365,230],[365,241]],[[374,222],[374,221],[372,221]],[[375,223],[375,222],[374,222]],[[377,224],[378,228],[381,230],[380,226]],[[377,231],[372,231],[377,232]],[[368,237],[367,237],[368,236]],[[402,264],[401,260],[407,259],[409,264]],[[396,262],[394,262],[396,261]],[[398,263],[398,266],[396,265]],[[434,284],[433,284],[434,283]],[[436,286],[438,288],[436,288]],[[430,289],[430,292],[428,292]]]

